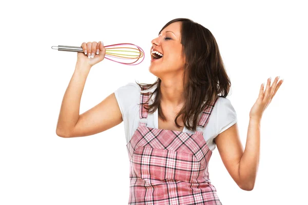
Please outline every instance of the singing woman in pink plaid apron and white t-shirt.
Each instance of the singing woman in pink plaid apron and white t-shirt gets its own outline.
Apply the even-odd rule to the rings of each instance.
[[[282,80],[277,83],[276,77],[271,86],[268,78],[264,92],[261,85],[249,113],[243,151],[236,112],[226,98],[230,80],[211,32],[190,19],[177,18],[151,43],[149,71],[157,81],[150,85],[129,83],[79,115],[87,75],[106,52],[102,42],[83,43],[85,54],[78,53],[56,134],[88,136],[124,121],[130,160],[129,204],[221,204],[208,177],[215,146],[237,185],[252,190],[261,117]]]

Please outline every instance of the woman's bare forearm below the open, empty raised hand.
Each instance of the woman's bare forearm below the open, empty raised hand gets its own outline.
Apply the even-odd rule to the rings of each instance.
[[[248,190],[255,185],[259,165],[260,122],[261,119],[249,119],[246,146],[239,165],[241,187]]]

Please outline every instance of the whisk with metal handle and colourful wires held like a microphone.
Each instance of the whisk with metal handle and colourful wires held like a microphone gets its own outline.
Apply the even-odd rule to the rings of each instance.
[[[59,46],[52,46],[51,48],[57,49],[58,51],[83,52],[82,47],[78,46],[59,45]],[[129,43],[113,44],[105,46],[105,48],[106,48],[105,58],[120,64],[135,66],[140,64],[144,60],[144,51],[142,50],[142,48],[134,44],[129,44]],[[138,61],[139,63],[137,63]]]

